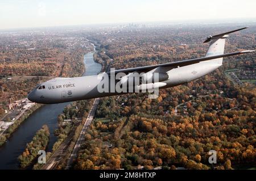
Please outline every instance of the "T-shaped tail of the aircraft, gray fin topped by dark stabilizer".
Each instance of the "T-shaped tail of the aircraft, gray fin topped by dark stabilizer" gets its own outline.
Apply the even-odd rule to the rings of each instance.
[[[240,31],[240,30],[243,30],[243,29],[246,29],[246,28],[249,28],[249,27],[244,27],[244,28],[240,28],[240,29],[237,29],[237,30],[233,30],[233,31],[229,31],[229,32],[225,32],[225,33],[221,33],[221,34],[218,34],[218,35],[207,37],[207,40],[205,40],[204,43],[207,43],[207,42],[210,41],[210,45],[209,45],[209,48],[207,50],[207,53],[205,54],[205,57],[224,54],[225,40],[226,40],[226,37],[229,37],[228,34],[236,32],[236,31]],[[223,57],[216,58],[216,59],[213,59],[213,60],[208,60],[208,61],[205,61],[205,62],[212,62],[214,64],[222,65],[222,60],[223,60]]]

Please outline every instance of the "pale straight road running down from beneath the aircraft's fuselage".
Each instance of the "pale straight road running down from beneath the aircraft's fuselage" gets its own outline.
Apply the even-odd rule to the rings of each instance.
[[[80,132],[79,138],[77,139],[76,144],[74,146],[74,149],[73,149],[73,151],[71,153],[71,156],[68,159],[68,163],[67,163],[66,169],[70,169],[71,168],[71,166],[73,164],[73,161],[77,157],[77,153],[78,153],[78,151],[80,149],[82,141],[84,140],[85,131],[89,127],[90,123],[92,123],[93,116],[94,116],[94,114],[96,112],[96,109],[97,109],[97,106],[98,106],[99,102],[100,102],[100,98],[94,99],[93,106],[92,106],[92,108],[90,108],[90,112],[89,112],[89,114],[87,116],[87,119],[86,119],[86,121],[84,123],[84,126],[82,127],[82,130]]]

